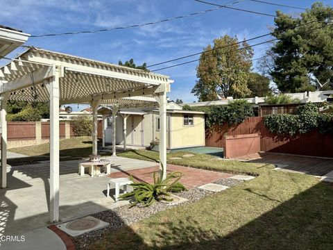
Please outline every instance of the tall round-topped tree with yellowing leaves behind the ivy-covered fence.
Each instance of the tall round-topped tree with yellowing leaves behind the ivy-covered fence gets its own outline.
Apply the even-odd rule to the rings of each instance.
[[[253,57],[253,49],[246,42],[237,44],[237,37],[216,38],[200,55],[193,90],[199,101],[213,101],[221,97],[246,97]]]

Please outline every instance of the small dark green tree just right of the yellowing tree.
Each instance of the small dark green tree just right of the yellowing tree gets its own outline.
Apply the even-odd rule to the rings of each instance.
[[[269,78],[255,72],[250,73],[248,89],[251,91],[248,97],[266,97],[272,93]]]

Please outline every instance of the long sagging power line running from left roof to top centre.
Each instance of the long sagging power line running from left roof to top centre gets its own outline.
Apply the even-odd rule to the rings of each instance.
[[[212,12],[214,10],[220,10],[221,8],[225,8],[229,5],[233,5],[233,4],[239,3],[241,1],[245,1],[245,0],[233,1],[232,3],[227,3],[223,6],[218,6],[217,8],[202,10],[202,11],[198,11],[198,12],[192,12],[192,13],[189,13],[189,14],[186,14],[186,15],[181,15],[181,16],[178,16],[178,17],[170,17],[170,18],[167,18],[167,19],[157,20],[155,22],[148,22],[148,23],[144,23],[144,24],[132,24],[132,25],[128,25],[128,26],[119,26],[119,27],[114,27],[114,28],[103,28],[103,29],[99,29],[99,30],[95,30],[95,31],[74,31],[74,32],[65,32],[65,33],[50,33],[50,34],[42,34],[42,35],[31,35],[31,38],[43,38],[43,37],[58,36],[58,35],[78,35],[78,34],[83,34],[83,33],[99,33],[99,32],[105,32],[105,31],[116,31],[116,30],[126,29],[126,28],[138,28],[138,27],[142,27],[142,26],[160,24],[162,22],[169,22],[169,21],[173,21],[173,20],[176,20],[176,19],[191,17],[191,16],[195,16],[195,15],[202,15],[202,14],[205,14],[207,12]]]

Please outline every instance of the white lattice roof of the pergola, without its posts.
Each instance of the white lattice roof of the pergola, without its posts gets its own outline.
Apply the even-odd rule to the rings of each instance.
[[[1,68],[2,92],[10,100],[49,101],[46,79],[54,65],[60,67],[61,104],[100,99],[101,105],[151,106],[157,88],[172,83],[169,76],[33,47]]]

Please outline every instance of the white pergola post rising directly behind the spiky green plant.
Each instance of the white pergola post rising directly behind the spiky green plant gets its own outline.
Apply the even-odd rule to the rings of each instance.
[[[168,86],[169,87],[169,86]],[[167,178],[167,85],[161,85],[160,92],[155,97],[160,106],[160,169],[162,178]]]

